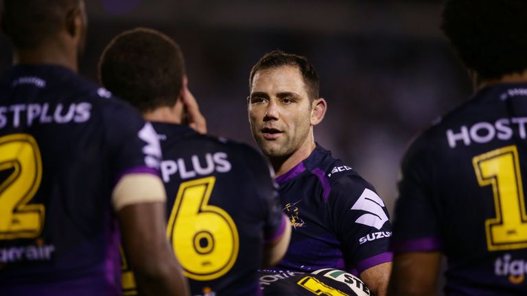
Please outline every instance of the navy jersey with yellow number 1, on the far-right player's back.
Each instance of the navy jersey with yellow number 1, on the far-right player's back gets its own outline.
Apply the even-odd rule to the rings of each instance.
[[[527,85],[501,84],[406,153],[393,248],[443,251],[448,295],[526,295]]]

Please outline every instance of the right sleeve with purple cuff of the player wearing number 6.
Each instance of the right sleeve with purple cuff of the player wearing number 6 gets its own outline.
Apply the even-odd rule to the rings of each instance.
[[[282,213],[282,206],[274,183],[272,169],[254,149],[247,147],[246,160],[253,173],[261,215],[264,220],[264,243],[272,243],[283,234],[289,219]]]

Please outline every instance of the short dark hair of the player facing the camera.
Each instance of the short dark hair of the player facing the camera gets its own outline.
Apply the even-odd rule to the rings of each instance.
[[[310,100],[318,99],[320,80],[314,67],[307,62],[307,58],[280,50],[266,53],[250,70],[249,89],[253,86],[253,78],[258,71],[279,68],[281,66],[294,66],[300,71],[307,87],[307,95]]]

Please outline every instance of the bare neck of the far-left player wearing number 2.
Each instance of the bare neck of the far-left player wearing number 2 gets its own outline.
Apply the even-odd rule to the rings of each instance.
[[[47,42],[33,49],[15,49],[13,64],[56,64],[78,72],[77,49],[63,42]]]

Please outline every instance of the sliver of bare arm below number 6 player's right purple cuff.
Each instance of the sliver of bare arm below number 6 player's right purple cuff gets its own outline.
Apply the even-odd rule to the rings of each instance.
[[[288,251],[289,241],[291,240],[291,223],[289,218],[282,214],[282,223],[277,230],[274,238],[264,244],[262,256],[262,267],[273,267],[282,260],[285,252]]]

